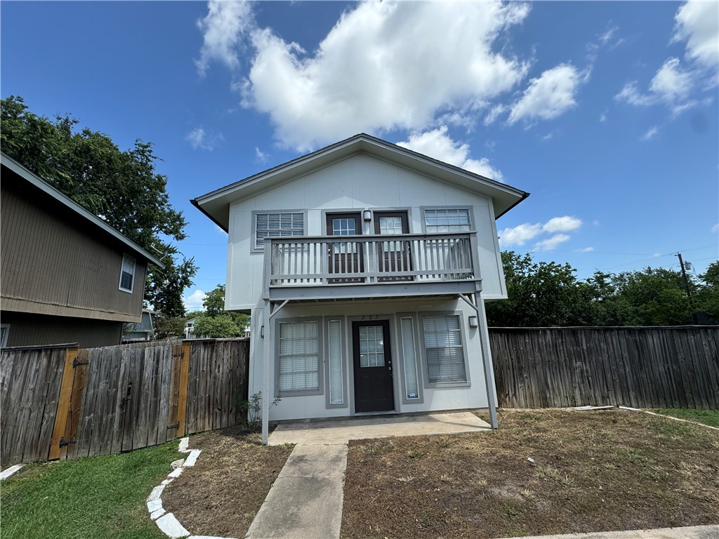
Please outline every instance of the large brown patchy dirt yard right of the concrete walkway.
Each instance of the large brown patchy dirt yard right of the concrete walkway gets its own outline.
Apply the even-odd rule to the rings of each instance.
[[[719,433],[689,423],[625,410],[506,410],[493,433],[349,443],[345,538],[718,522]]]

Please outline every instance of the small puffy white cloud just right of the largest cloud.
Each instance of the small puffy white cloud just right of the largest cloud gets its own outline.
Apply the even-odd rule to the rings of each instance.
[[[512,105],[508,124],[521,119],[549,120],[557,118],[577,105],[574,95],[582,83],[582,75],[571,64],[560,64],[544,71],[529,86],[519,101]]]

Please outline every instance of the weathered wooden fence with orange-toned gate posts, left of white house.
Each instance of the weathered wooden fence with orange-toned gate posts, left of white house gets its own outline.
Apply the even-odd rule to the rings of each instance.
[[[0,465],[154,446],[244,422],[247,339],[4,349]]]

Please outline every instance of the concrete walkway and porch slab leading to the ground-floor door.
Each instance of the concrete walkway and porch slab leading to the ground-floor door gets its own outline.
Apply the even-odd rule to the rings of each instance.
[[[279,425],[268,443],[297,445],[245,537],[339,538],[349,440],[489,430],[470,412]]]

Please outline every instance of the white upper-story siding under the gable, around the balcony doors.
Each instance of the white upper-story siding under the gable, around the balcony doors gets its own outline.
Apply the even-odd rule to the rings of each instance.
[[[307,236],[326,234],[328,211],[406,210],[411,234],[423,232],[424,207],[462,206],[471,209],[480,257],[482,297],[505,298],[497,229],[489,198],[441,183],[369,155],[355,155],[328,167],[232,203],[229,219],[226,308],[262,307],[262,252],[252,252],[252,211],[304,211]],[[363,234],[373,234],[365,223]]]

